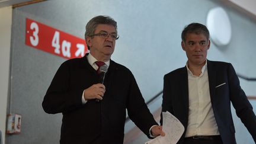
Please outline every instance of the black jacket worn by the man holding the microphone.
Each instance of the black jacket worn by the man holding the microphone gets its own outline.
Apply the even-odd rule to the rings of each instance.
[[[46,113],[62,113],[60,143],[123,143],[126,109],[146,135],[157,124],[132,72],[110,60],[103,100],[82,104],[82,92],[99,82],[85,57],[67,60],[57,70],[43,100]]]

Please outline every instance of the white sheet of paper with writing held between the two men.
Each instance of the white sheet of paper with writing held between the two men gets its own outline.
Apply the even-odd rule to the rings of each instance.
[[[162,112],[162,116],[162,130],[165,132],[165,136],[158,136],[145,144],[176,144],[183,135],[184,126],[180,120],[168,111]]]

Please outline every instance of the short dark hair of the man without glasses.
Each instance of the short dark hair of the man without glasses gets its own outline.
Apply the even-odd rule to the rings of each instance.
[[[207,29],[206,25],[199,23],[191,23],[185,26],[183,32],[181,33],[181,40],[185,41],[185,37],[188,33],[204,34],[207,40],[209,40],[210,37],[209,30]]]

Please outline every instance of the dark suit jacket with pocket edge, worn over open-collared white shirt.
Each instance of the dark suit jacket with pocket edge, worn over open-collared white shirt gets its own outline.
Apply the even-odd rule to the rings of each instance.
[[[256,142],[256,116],[245,92],[239,85],[238,76],[231,63],[207,60],[207,70],[210,100],[223,143],[236,143],[231,103],[237,116]],[[220,86],[217,87],[218,85]],[[184,125],[186,132],[188,123],[188,73],[186,67],[176,69],[164,76],[162,111],[169,111],[177,117]],[[178,143],[183,143],[185,132]]]

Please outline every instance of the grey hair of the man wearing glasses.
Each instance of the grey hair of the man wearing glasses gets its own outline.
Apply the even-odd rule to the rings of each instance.
[[[96,27],[98,26],[98,24],[113,25],[117,31],[117,22],[113,18],[105,16],[105,15],[98,15],[97,17],[94,17],[91,20],[89,20],[89,22],[85,26],[85,42],[86,43],[87,43],[86,37],[87,36],[90,37],[94,34],[94,31],[95,31]],[[87,44],[87,47],[89,49],[88,44]]]

